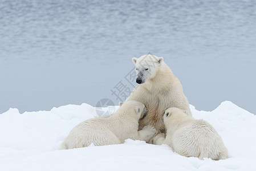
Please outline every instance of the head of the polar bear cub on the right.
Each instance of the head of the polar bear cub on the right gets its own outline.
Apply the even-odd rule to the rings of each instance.
[[[170,120],[174,120],[180,117],[188,116],[188,112],[179,108],[168,108],[163,113],[164,115],[164,123]]]

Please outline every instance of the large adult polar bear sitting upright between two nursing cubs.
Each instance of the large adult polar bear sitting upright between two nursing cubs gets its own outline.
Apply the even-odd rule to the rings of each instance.
[[[165,64],[164,58],[148,54],[139,59],[132,58],[132,61],[135,64],[136,82],[139,85],[133,89],[124,103],[136,100],[148,108],[147,116],[139,121],[139,130],[145,125],[153,125],[157,132],[165,132],[162,113],[170,107],[184,109],[192,116],[181,83]],[[152,143],[152,140],[148,143]]]

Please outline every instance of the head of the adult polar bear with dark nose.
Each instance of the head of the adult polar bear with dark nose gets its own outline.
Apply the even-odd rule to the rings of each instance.
[[[143,55],[140,58],[132,58],[137,73],[136,83],[143,84],[148,79],[156,76],[164,58],[155,55]]]

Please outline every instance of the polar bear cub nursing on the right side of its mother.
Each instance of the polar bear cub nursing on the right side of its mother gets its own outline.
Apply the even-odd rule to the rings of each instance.
[[[157,135],[154,144],[167,144],[174,152],[186,157],[226,159],[227,148],[221,136],[208,122],[188,116],[186,111],[169,108],[164,112],[166,138]]]

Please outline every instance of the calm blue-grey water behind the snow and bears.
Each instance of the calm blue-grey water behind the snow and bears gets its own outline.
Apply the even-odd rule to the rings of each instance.
[[[256,113],[256,2],[1,1],[0,113],[103,98],[133,68],[163,56],[189,103],[230,100]]]

